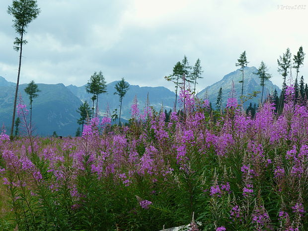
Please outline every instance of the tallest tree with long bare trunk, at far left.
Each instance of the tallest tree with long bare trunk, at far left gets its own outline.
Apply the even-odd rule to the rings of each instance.
[[[18,65],[18,74],[17,74],[17,83],[15,90],[14,98],[14,107],[13,107],[13,116],[12,116],[12,126],[10,135],[13,135],[14,122],[15,122],[15,113],[16,113],[16,103],[17,103],[17,94],[19,86],[19,77],[20,77],[20,68],[21,68],[21,57],[22,57],[22,46],[27,43],[23,38],[26,33],[26,28],[29,23],[34,20],[40,13],[40,8],[38,8],[36,0],[13,0],[12,5],[8,6],[7,13],[14,17],[13,19],[13,28],[19,37],[15,38],[14,41],[14,50],[19,51],[19,65]]]

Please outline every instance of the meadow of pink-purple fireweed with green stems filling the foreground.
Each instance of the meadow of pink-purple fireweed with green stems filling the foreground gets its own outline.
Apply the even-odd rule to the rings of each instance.
[[[129,126],[93,118],[76,138],[2,131],[0,230],[307,231],[307,99],[289,86],[281,115],[268,99],[254,118],[232,97],[180,102],[166,120],[136,99]]]

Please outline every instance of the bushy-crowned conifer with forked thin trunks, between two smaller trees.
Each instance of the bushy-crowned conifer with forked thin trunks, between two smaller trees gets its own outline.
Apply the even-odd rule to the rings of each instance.
[[[97,116],[98,95],[107,92],[106,87],[107,85],[105,77],[103,76],[102,72],[98,73],[94,72],[94,74],[91,76],[90,80],[85,86],[86,92],[93,94],[91,97],[91,100],[93,101],[92,118],[94,117],[94,102],[96,100],[96,116]]]

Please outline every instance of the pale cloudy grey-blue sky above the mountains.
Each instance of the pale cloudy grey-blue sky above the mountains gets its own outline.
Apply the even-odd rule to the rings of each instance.
[[[12,0],[0,0],[0,76],[16,82],[19,53]],[[201,60],[201,91],[235,71],[246,51],[248,66],[269,68],[281,86],[277,59],[289,47],[308,53],[306,0],[38,0],[41,9],[25,35],[20,83],[81,86],[102,71],[107,83],[125,78],[140,86],[174,84],[164,77],[187,56]],[[293,9],[292,9],[293,8]],[[308,55],[299,75],[308,82]],[[293,70],[293,77],[296,76]]]

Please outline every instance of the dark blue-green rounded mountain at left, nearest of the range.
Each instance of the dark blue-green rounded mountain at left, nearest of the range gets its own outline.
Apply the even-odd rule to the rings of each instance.
[[[62,136],[75,135],[79,118],[76,110],[82,103],[80,99],[62,83],[37,85],[41,92],[32,104],[32,121],[36,133],[46,136],[56,131]],[[26,86],[20,84],[18,92],[29,109],[28,95],[24,92]],[[4,123],[7,130],[11,125],[14,92],[15,86],[0,86],[0,123]]]

